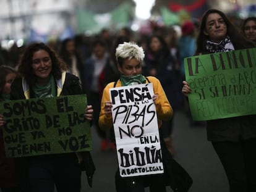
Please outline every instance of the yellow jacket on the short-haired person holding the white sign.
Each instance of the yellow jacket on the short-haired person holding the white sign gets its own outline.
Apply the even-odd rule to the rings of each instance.
[[[173,108],[166,98],[163,87],[161,86],[160,81],[155,77],[147,77],[150,83],[153,83],[153,90],[155,94],[158,94],[158,98],[155,101],[156,105],[156,114],[158,118],[158,127],[161,127],[161,120],[170,120],[173,116]],[[148,83],[147,80],[147,83]],[[116,87],[121,86],[121,81],[118,80]],[[105,102],[110,101],[109,88],[114,88],[114,82],[109,83],[103,90],[103,95],[101,99],[101,110],[99,117],[99,125],[103,129],[111,128],[113,126],[112,115],[105,115]]]

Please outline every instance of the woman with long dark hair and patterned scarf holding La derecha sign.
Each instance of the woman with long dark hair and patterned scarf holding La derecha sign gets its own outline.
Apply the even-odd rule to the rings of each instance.
[[[210,9],[202,18],[196,54],[254,48],[223,12]],[[183,81],[188,96],[189,84]],[[207,120],[207,138],[220,157],[228,177],[230,192],[256,191],[256,115]]]

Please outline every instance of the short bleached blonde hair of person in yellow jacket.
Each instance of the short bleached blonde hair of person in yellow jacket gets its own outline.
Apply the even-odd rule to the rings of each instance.
[[[135,58],[138,61],[142,61],[145,57],[142,47],[138,46],[134,42],[124,42],[119,44],[116,48],[116,59],[132,59]]]

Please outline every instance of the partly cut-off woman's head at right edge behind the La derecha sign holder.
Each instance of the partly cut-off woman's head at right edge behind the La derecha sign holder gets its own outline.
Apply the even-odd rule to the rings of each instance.
[[[242,23],[242,32],[247,40],[256,43],[256,17],[248,17]]]

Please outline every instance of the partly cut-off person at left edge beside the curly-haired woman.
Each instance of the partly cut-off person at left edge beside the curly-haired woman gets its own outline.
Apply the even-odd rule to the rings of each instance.
[[[0,102],[10,100],[11,85],[16,76],[17,72],[11,67],[0,66]],[[0,119],[0,188],[2,192],[19,192],[15,178],[14,159],[6,158],[2,125],[3,122]]]

